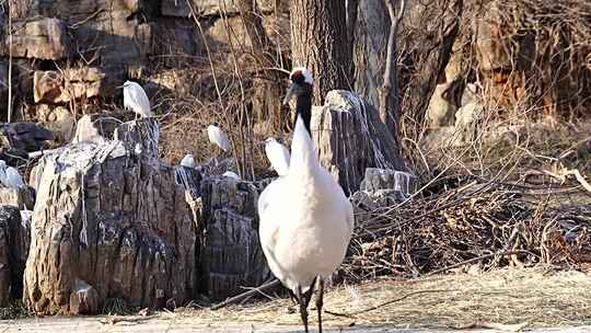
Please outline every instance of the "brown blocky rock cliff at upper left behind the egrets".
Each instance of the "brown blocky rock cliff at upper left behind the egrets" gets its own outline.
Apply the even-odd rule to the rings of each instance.
[[[277,34],[270,19],[277,16],[275,1],[260,0],[258,8],[266,15],[266,27]],[[0,8],[0,120],[8,119],[10,82],[11,120],[57,122],[48,127],[69,129],[57,135],[62,141],[58,143],[67,142],[73,133],[62,123],[120,103],[117,87],[124,80],[139,80],[153,97],[178,89],[179,76],[149,77],[204,65],[205,42],[216,49],[232,36],[246,45],[237,15],[233,0],[11,1]],[[197,81],[190,76],[184,80]],[[57,106],[61,108],[56,111]]]

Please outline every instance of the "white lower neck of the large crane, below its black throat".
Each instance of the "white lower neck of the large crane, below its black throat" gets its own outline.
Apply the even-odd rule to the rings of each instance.
[[[310,133],[305,129],[305,125],[300,115],[296,120],[296,129],[293,130],[293,140],[291,141],[291,158],[289,161],[289,171],[311,170],[318,164],[316,150]]]

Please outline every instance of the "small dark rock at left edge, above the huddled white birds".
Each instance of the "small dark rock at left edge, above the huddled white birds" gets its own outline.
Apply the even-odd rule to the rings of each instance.
[[[2,146],[22,151],[37,151],[54,139],[47,128],[35,123],[0,123]]]

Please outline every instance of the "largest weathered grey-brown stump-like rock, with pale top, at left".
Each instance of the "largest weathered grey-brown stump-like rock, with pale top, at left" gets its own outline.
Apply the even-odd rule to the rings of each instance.
[[[107,298],[160,308],[195,295],[197,221],[153,146],[129,150],[131,138],[150,139],[141,126],[126,126],[140,133],[125,142],[71,145],[39,162],[23,297],[35,313],[96,313]]]

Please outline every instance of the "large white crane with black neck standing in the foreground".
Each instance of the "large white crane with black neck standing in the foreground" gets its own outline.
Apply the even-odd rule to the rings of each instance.
[[[343,188],[316,157],[310,135],[312,76],[303,68],[291,74],[288,97],[297,97],[289,171],[260,194],[259,237],[269,268],[296,296],[308,332],[308,305],[316,289],[322,332],[324,279],[345,259],[354,228],[352,206]]]

